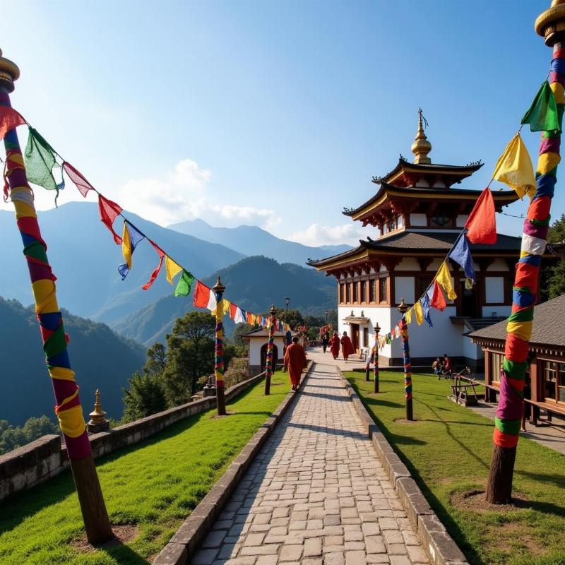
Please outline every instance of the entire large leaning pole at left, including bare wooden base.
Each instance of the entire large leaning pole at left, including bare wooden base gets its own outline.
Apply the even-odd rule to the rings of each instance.
[[[16,64],[1,57],[1,54],[0,51],[0,105],[10,107],[9,94],[13,92],[13,81],[20,76],[20,71]],[[16,129],[8,131],[4,137],[4,147],[8,194],[16,209],[18,230],[24,245],[23,254],[28,261],[35,312],[40,323],[47,368],[57,402],[55,412],[71,463],[86,537],[93,544],[106,542],[114,534],[90,450],[83,409],[78,398],[78,386],[67,351],[63,318],[57,304],[55,277],[47,259],[47,244],[37,222],[33,194],[25,174]]]

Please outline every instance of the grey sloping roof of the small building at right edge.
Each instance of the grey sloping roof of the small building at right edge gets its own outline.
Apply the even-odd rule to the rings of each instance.
[[[530,345],[536,347],[565,348],[565,295],[561,295],[534,307],[534,322]],[[474,343],[504,342],[506,321],[468,333]]]

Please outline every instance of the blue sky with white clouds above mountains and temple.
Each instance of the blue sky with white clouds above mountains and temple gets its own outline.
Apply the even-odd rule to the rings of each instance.
[[[547,75],[533,22],[548,6],[23,0],[2,8],[0,47],[22,73],[13,106],[124,208],[162,225],[199,217],[355,243],[374,232],[341,210],[412,156],[420,106],[432,162],[481,159],[463,186],[487,184]],[[523,138],[535,159],[537,133]],[[73,186],[59,201],[71,199]],[[499,216],[501,232],[521,225]]]

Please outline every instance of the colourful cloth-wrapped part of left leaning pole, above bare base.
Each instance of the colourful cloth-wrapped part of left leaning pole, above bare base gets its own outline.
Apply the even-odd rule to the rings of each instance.
[[[6,90],[0,90],[0,105],[10,106]],[[35,313],[40,323],[43,350],[51,376],[55,412],[63,432],[69,458],[82,459],[90,455],[90,441],[86,432],[83,409],[78,398],[78,385],[71,369],[67,336],[57,304],[55,276],[47,259],[47,244],[42,239],[33,194],[25,174],[25,165],[15,129],[4,138],[6,172],[9,196],[16,210],[18,230],[23,241],[23,254],[28,261]]]

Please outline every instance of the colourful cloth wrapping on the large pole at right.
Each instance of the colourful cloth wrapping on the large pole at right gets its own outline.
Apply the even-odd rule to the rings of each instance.
[[[524,222],[520,259],[516,265],[513,285],[512,311],[506,326],[499,406],[493,436],[494,444],[502,448],[513,448],[518,444],[540,264],[547,243],[549,210],[557,182],[557,164],[561,158],[559,145],[565,107],[565,49],[560,47],[561,44],[557,44],[554,48],[552,72],[549,75],[549,86],[557,102],[559,128],[542,133],[536,169],[536,191]]]

